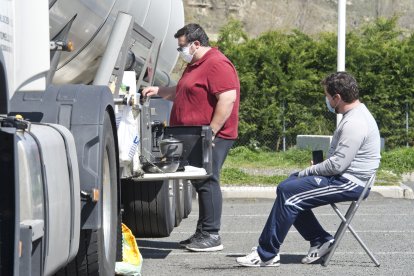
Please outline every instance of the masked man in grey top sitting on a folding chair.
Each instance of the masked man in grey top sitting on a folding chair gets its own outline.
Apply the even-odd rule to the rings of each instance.
[[[356,200],[380,163],[377,123],[359,101],[358,86],[348,73],[338,72],[322,81],[326,105],[343,114],[327,159],[292,174],[277,187],[277,197],[259,238],[259,246],[244,257],[242,266],[279,266],[280,246],[292,224],[310,242],[302,263],[315,262],[329,252],[333,237],[317,221],[312,208]]]

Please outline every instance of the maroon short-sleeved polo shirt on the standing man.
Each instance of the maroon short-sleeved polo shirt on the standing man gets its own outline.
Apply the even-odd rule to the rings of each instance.
[[[184,70],[177,84],[170,125],[209,125],[217,105],[216,95],[230,90],[236,90],[237,98],[230,117],[216,134],[224,139],[237,138],[240,82],[230,60],[218,49],[211,48]]]

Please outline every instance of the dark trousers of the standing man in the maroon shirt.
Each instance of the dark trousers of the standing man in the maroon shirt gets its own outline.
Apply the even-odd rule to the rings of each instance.
[[[220,231],[223,205],[220,189],[220,171],[233,144],[234,140],[216,137],[212,152],[213,173],[206,180],[193,183],[198,194],[198,231],[206,231],[210,234],[218,234]]]

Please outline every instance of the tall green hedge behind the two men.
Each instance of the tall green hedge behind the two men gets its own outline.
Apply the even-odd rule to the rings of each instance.
[[[378,19],[349,32],[346,48],[347,71],[359,82],[387,148],[414,144],[405,121],[408,107],[409,124],[414,123],[414,36],[403,35],[396,21]],[[320,81],[336,71],[336,34],[269,31],[249,38],[232,20],[221,29],[217,46],[239,73],[238,145],[281,149],[283,123],[288,147],[298,134],[332,134],[335,115],[327,111]],[[273,137],[276,146],[272,139],[257,145],[257,137]]]

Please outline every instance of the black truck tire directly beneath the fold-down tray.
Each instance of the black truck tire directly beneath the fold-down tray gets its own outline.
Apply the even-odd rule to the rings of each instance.
[[[135,237],[168,237],[174,229],[175,191],[171,181],[122,180],[123,222]]]

